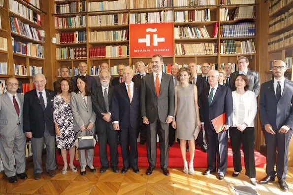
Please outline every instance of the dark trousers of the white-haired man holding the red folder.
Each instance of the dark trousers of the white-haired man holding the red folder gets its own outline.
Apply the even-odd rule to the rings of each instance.
[[[209,131],[209,132],[207,132]],[[206,130],[208,170],[216,170],[226,174],[228,161],[228,130],[216,134],[213,129]]]

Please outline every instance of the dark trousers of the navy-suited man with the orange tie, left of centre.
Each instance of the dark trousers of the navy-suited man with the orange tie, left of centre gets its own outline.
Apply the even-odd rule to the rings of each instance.
[[[121,150],[123,157],[123,167],[137,168],[138,151],[137,151],[137,128],[120,129],[121,132]]]

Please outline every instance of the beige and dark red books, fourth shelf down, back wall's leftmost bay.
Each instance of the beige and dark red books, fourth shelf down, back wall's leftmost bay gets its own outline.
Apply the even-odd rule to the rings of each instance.
[[[87,58],[86,47],[56,48],[56,60]]]

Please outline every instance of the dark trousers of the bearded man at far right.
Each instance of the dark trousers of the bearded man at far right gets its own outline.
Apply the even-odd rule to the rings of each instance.
[[[292,136],[292,130],[286,134],[279,133],[275,130],[275,135],[272,135],[266,130],[264,131],[265,144],[266,144],[266,174],[275,177],[276,171],[276,150],[278,150],[277,157],[277,177],[278,179],[285,179],[288,172],[288,148]]]

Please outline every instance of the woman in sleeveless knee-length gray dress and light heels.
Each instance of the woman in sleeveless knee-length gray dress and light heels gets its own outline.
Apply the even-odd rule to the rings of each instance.
[[[180,81],[180,85],[175,87],[175,118],[172,126],[177,131],[177,138],[180,139],[180,149],[184,162],[183,172],[193,174],[195,134],[198,135],[200,126],[197,87],[189,84],[190,72],[187,68],[181,68],[177,78]],[[189,166],[186,160],[186,141],[188,141],[189,145]]]

